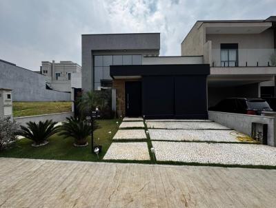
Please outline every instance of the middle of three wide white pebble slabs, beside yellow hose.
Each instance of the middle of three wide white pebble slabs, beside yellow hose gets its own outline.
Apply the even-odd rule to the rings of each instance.
[[[240,142],[233,130],[148,129],[148,132],[151,140]]]

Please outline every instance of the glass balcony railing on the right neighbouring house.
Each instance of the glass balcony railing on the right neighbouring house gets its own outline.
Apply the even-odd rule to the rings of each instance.
[[[276,66],[275,48],[241,48],[237,56],[221,54],[220,49],[212,50],[213,67],[270,67]]]

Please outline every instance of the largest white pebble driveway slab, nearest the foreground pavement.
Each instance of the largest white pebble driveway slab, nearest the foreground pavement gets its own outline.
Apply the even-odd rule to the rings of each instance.
[[[157,160],[225,165],[276,165],[276,148],[237,143],[152,141]]]

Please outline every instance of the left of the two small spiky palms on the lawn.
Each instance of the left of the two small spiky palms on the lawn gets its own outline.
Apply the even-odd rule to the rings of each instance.
[[[20,125],[21,130],[17,135],[34,141],[32,146],[46,145],[48,144],[47,139],[59,130],[59,127],[55,126],[56,124],[57,122],[53,122],[52,120],[39,121],[39,123],[30,121],[26,123],[26,127]]]

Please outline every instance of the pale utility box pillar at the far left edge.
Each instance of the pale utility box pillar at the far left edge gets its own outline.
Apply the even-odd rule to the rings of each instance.
[[[12,118],[12,90],[0,88],[0,118]]]

